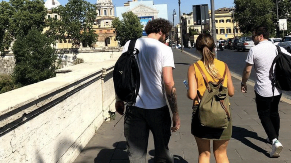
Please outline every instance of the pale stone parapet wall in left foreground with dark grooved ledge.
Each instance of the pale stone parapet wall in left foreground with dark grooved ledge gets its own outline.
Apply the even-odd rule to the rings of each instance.
[[[0,162],[73,162],[115,110],[114,64],[81,63],[0,94]]]

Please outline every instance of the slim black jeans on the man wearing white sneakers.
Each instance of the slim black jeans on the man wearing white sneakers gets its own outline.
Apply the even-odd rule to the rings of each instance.
[[[269,140],[272,141],[275,138],[278,139],[280,129],[278,105],[282,94],[274,96],[273,101],[273,97],[263,97],[257,92],[255,92],[255,95],[259,118]]]

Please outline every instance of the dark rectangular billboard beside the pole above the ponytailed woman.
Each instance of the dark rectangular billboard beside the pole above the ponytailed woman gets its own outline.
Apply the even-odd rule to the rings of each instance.
[[[209,24],[208,4],[193,5],[194,25]]]

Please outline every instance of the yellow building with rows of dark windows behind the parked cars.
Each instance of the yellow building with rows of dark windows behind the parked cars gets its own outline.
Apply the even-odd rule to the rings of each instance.
[[[216,39],[227,39],[240,37],[243,33],[240,32],[238,27],[238,22],[234,22],[233,24],[233,12],[235,12],[234,8],[221,8],[215,10],[215,26],[216,26]],[[211,31],[211,12],[209,11],[210,24],[209,28]],[[227,36],[226,36],[227,35]]]

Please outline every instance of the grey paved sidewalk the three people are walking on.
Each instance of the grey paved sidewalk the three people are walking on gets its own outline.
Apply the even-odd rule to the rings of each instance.
[[[192,101],[186,97],[183,80],[187,80],[189,65],[197,59],[180,50],[173,49],[176,69],[173,71],[177,89],[177,101],[181,128],[172,133],[169,149],[174,154],[175,163],[198,162],[198,148],[191,135]],[[231,163],[291,163],[291,105],[280,102],[279,113],[281,129],[279,140],[284,146],[280,158],[270,158],[271,145],[266,143],[266,133],[260,123],[255,104],[255,93],[248,85],[248,93],[240,92],[240,80],[232,78],[235,95],[230,98],[233,132],[228,146]],[[117,113],[116,113],[117,114]],[[74,163],[128,163],[126,141],[123,134],[123,119],[115,126],[121,116],[104,122],[97,130]],[[212,149],[212,148],[211,148]],[[211,151],[212,152],[212,151]],[[153,163],[154,143],[149,138],[147,163]],[[213,152],[211,163],[214,163]]]

